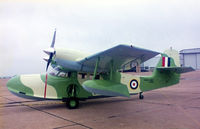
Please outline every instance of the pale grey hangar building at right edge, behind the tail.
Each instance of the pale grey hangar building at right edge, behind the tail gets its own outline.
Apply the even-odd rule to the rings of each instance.
[[[200,48],[183,49],[179,54],[181,66],[200,69]]]

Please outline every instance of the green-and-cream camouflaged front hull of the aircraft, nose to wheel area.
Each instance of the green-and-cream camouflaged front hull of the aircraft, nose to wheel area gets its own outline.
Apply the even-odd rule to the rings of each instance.
[[[68,98],[67,88],[70,84],[76,85],[77,97],[88,98],[92,94],[83,89],[77,81],[77,73],[73,73],[72,77],[57,77],[48,74],[47,79],[47,99],[63,99]],[[44,98],[45,74],[21,75],[10,79],[7,87],[11,92]]]

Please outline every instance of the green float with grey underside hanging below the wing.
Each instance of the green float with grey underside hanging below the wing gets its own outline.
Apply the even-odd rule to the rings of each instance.
[[[83,88],[100,95],[130,97],[126,85],[108,80],[88,80],[83,83]]]

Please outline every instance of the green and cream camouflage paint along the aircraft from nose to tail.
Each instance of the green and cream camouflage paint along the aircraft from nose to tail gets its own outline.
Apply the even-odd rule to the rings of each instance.
[[[162,56],[167,55],[162,54]],[[162,67],[162,57],[157,65],[157,68],[159,67]],[[173,59],[170,67],[176,67]],[[103,91],[104,93],[113,96],[120,95],[128,97],[129,94],[132,93],[140,93],[162,88],[179,82],[179,74],[172,70],[163,72],[157,68],[154,70],[152,76],[133,76],[111,69],[112,71],[109,73],[100,74],[100,80],[88,80],[91,79],[89,77],[86,79],[80,79],[78,78],[77,72],[72,72],[70,77],[58,77],[49,74],[46,98],[63,99],[70,97],[68,94],[68,87],[72,84],[76,85],[77,98],[88,98],[93,96],[93,94],[86,91],[82,84],[86,89],[92,88],[92,90]],[[8,81],[7,87],[10,91],[15,93],[44,98],[45,75],[16,76]]]

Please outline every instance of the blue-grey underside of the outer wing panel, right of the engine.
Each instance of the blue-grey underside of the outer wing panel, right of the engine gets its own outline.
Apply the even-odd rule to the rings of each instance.
[[[118,45],[78,62],[83,66],[94,68],[97,59],[100,58],[98,69],[107,72],[110,71],[111,62],[113,62],[114,69],[120,69],[124,64],[130,61],[139,61],[140,63],[143,63],[158,54],[160,53],[134,46]]]

